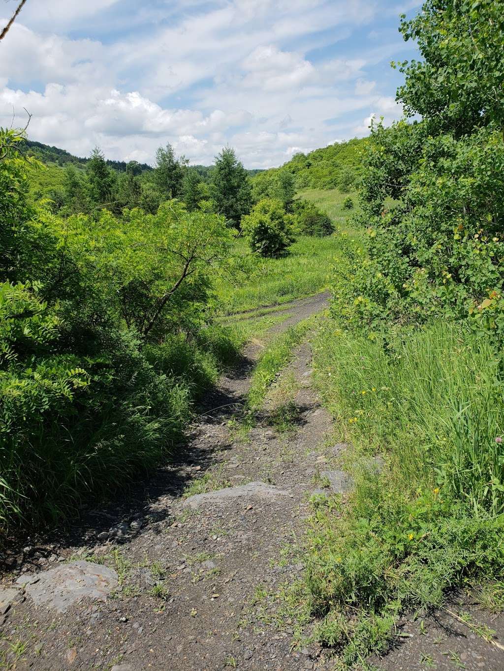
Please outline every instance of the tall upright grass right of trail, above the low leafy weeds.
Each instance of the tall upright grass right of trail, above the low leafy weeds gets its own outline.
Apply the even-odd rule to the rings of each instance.
[[[444,322],[376,340],[339,333],[316,344],[317,379],[353,442],[501,513],[504,405],[489,342]]]

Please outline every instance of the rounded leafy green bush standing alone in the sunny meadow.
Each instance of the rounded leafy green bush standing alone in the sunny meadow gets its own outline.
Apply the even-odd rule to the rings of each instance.
[[[281,201],[259,201],[241,222],[251,250],[261,256],[285,256],[294,242],[292,215],[286,213]]]

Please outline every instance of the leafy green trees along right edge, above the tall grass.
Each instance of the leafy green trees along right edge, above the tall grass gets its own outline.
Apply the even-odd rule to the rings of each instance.
[[[398,99],[424,118],[373,129],[360,217],[368,258],[340,295],[371,328],[472,315],[501,343],[504,141],[502,96],[491,95],[504,85],[501,9],[429,2],[401,25],[425,61],[402,65]]]

